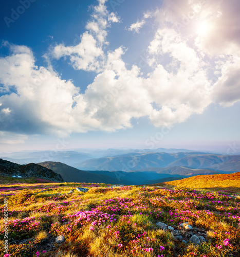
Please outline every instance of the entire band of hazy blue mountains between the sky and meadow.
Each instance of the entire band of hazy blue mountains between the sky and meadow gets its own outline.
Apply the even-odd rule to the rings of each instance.
[[[3,153],[1,156],[20,164],[38,163],[61,175],[66,182],[143,185],[196,175],[240,171],[240,155],[192,152],[186,149],[156,149],[154,152],[149,149],[79,149]]]

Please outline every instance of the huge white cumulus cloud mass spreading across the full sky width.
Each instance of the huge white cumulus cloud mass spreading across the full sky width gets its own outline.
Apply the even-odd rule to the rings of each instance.
[[[46,54],[97,72],[84,93],[51,67],[36,66],[28,47],[10,45],[11,54],[0,58],[1,91],[8,93],[0,97],[4,133],[115,131],[132,127],[139,117],[169,126],[201,114],[213,102],[231,106],[240,101],[237,1],[233,9],[227,1],[165,0],[146,12],[144,19],[157,24],[146,49],[151,69],[146,76],[123,61],[126,48],[106,49],[107,30],[120,18],[107,11],[105,2],[93,7],[78,45],[56,45]],[[140,32],[144,19],[128,30]]]

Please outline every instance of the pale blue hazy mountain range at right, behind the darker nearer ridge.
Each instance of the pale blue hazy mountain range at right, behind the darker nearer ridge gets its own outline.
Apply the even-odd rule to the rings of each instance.
[[[188,167],[215,171],[240,171],[240,155],[201,152],[124,154],[85,160],[73,165],[81,170],[136,171],[149,168]]]

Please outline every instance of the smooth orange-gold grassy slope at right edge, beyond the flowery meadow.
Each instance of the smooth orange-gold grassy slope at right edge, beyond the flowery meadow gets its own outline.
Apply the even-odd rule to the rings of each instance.
[[[232,174],[202,175],[165,182],[165,185],[190,189],[230,189],[240,192],[240,172]]]

